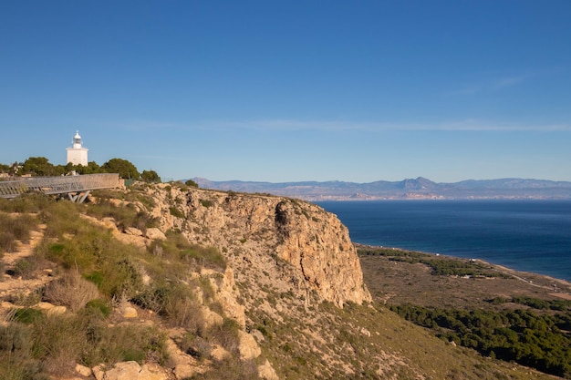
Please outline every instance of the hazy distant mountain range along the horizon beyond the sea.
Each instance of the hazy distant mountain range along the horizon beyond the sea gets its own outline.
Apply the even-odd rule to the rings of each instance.
[[[462,180],[437,183],[419,177],[369,183],[330,180],[325,182],[253,182],[192,179],[202,189],[269,193],[301,200],[469,200],[469,199],[571,199],[571,182],[554,180]]]

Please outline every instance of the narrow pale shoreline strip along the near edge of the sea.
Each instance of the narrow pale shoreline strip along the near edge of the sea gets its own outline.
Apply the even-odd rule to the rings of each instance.
[[[505,275],[509,275],[516,280],[522,281],[530,286],[535,286],[537,288],[541,288],[545,291],[551,290],[551,292],[547,293],[553,297],[561,298],[564,300],[571,301],[571,282],[568,282],[563,279],[558,279],[546,274],[536,273],[536,272],[524,272],[524,271],[517,271],[512,268],[506,267],[500,264],[494,264],[493,262],[486,262],[482,259],[467,259],[458,256],[451,256],[442,253],[432,253],[432,252],[421,252],[421,251],[413,251],[413,250],[406,250],[399,247],[385,247],[380,245],[370,245],[370,244],[362,244],[359,242],[353,242],[353,245],[356,249],[364,248],[364,249],[385,249],[385,250],[394,250],[394,251],[401,251],[401,252],[419,252],[431,256],[439,256],[442,258],[446,258],[447,260],[453,261],[466,261],[466,260],[473,260],[475,262],[479,262],[483,265],[489,266],[493,271],[501,272]]]

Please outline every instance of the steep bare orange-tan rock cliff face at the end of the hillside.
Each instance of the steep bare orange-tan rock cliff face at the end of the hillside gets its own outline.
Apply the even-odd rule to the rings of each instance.
[[[252,297],[272,284],[340,307],[371,300],[348,229],[314,204],[168,185],[149,192],[157,200],[152,213],[161,229],[217,247]]]

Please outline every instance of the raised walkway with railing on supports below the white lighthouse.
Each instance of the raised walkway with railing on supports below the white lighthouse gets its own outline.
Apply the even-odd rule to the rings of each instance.
[[[0,180],[0,198],[16,198],[27,192],[43,192],[67,196],[69,200],[83,202],[91,190],[113,189],[122,186],[119,174],[85,174],[65,177],[27,177],[18,180]]]

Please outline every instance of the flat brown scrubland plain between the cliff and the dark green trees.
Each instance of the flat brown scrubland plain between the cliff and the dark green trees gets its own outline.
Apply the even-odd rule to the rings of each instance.
[[[359,251],[373,249],[357,245]],[[431,255],[433,259],[467,262],[448,256]],[[493,309],[500,306],[487,302],[494,297],[527,296],[545,300],[571,299],[571,283],[548,276],[516,272],[509,268],[478,262],[500,277],[458,277],[433,275],[423,263],[396,262],[389,257],[360,255],[363,277],[376,299],[393,305],[415,304],[443,308]],[[503,304],[505,309],[509,304]],[[514,305],[515,307],[515,305]],[[522,305],[517,305],[521,308]]]

